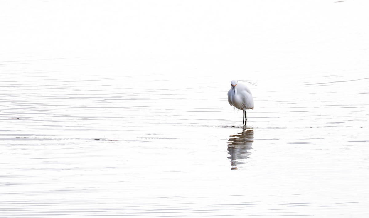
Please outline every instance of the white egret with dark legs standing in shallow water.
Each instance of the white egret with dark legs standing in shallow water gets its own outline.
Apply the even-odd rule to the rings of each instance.
[[[254,98],[252,97],[250,89],[243,83],[238,83],[243,80],[232,80],[231,89],[228,91],[228,103],[244,112],[242,124],[246,125],[246,110],[254,110]],[[243,81],[247,82],[247,81]],[[252,84],[252,83],[251,83]],[[256,85],[255,85],[256,86]],[[244,121],[245,120],[245,121]]]

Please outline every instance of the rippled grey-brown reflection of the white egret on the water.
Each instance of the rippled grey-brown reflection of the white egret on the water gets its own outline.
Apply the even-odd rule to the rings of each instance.
[[[239,135],[230,135],[232,138],[228,139],[228,158],[231,159],[231,170],[237,170],[237,164],[243,164],[240,160],[247,159],[251,154],[248,150],[252,149],[252,142],[254,142],[254,130],[243,129]]]

